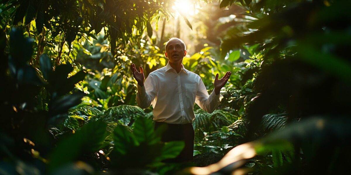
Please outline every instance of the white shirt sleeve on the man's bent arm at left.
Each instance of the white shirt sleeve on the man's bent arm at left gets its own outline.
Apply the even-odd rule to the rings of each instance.
[[[137,86],[138,86],[138,92],[135,100],[137,101],[137,104],[139,105],[139,107],[145,109],[152,104],[152,101],[154,100],[157,94],[154,78],[150,74],[146,78],[143,87],[139,85]]]

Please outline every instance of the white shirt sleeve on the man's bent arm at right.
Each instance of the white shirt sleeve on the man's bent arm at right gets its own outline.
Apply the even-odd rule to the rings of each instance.
[[[195,103],[200,106],[201,109],[208,113],[212,113],[219,105],[219,97],[220,94],[216,95],[216,92],[213,91],[211,92],[210,95],[208,95],[208,92],[206,90],[206,87],[199,77],[199,82],[198,82],[198,90],[196,93],[196,99]]]

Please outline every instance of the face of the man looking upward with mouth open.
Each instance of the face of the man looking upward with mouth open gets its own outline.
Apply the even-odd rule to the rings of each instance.
[[[184,50],[183,44],[179,40],[171,40],[168,42],[165,56],[171,63],[182,62],[185,55],[186,50]]]

